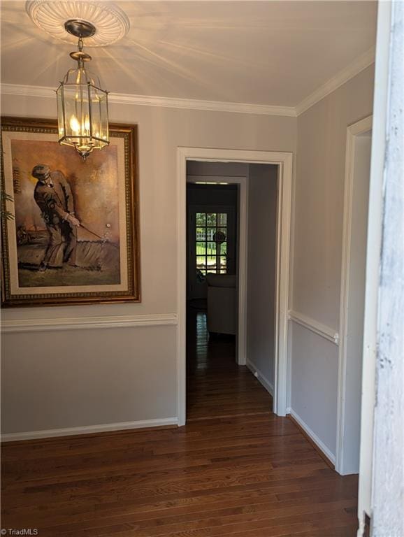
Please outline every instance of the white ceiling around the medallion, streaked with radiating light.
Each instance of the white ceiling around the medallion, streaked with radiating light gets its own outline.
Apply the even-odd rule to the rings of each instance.
[[[375,1],[117,1],[122,41],[89,51],[110,92],[296,106],[375,45]],[[72,45],[1,2],[1,82],[57,87]]]

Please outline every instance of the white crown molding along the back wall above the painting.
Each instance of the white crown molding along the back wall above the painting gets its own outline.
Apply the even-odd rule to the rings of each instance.
[[[20,84],[1,84],[1,94],[55,99],[55,88]],[[173,97],[133,95],[127,93],[111,93],[108,95],[108,102],[110,104],[129,104],[132,106],[159,106],[163,108],[182,108],[185,110],[296,117],[296,111],[293,106],[203,101],[201,99],[175,99]]]

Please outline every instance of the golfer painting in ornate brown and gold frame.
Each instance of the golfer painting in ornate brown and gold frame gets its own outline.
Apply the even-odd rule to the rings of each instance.
[[[85,161],[57,138],[1,118],[2,305],[140,301],[136,126]]]

